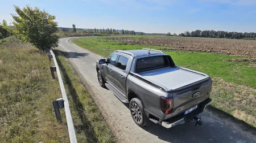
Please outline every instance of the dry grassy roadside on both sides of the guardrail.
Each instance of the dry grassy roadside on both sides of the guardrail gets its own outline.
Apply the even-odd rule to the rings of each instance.
[[[64,109],[60,109],[63,123],[56,122],[52,109],[52,101],[62,96],[59,81],[51,77],[53,62],[48,54],[14,37],[4,41],[0,45],[0,142],[69,142]],[[60,61],[77,141],[114,142],[79,78],[64,57]]]

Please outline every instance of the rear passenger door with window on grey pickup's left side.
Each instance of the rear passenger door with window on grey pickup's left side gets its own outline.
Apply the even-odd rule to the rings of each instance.
[[[125,55],[119,55],[117,64],[113,70],[115,80],[115,87],[124,95],[126,95],[126,77],[127,77],[127,63],[129,58]]]

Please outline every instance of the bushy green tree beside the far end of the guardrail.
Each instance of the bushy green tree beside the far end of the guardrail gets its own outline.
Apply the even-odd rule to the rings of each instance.
[[[56,32],[55,16],[38,7],[26,6],[23,9],[14,6],[16,14],[13,16],[13,34],[19,40],[30,42],[41,50],[57,46],[59,37]]]

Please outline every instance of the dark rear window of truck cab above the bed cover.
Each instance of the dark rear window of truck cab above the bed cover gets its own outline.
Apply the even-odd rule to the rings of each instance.
[[[147,57],[141,58],[137,60],[136,71],[149,71],[154,70],[156,68],[162,68],[169,66],[167,56],[154,56],[154,57]]]

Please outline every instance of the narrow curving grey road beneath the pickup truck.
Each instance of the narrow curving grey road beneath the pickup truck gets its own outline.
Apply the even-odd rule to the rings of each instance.
[[[110,90],[98,84],[95,66],[96,60],[101,57],[71,44],[70,39],[60,39],[58,49],[67,54],[69,62],[86,84],[118,142],[256,142],[253,135],[242,131],[236,123],[220,119],[209,111],[200,114],[203,121],[201,126],[195,127],[194,122],[189,122],[170,129],[153,123],[139,127],[131,118],[128,106]]]

